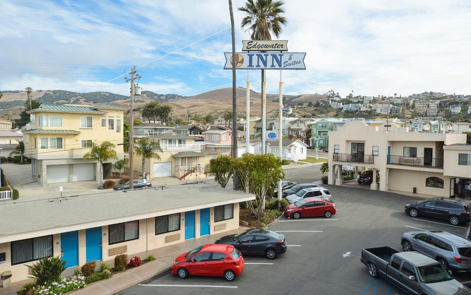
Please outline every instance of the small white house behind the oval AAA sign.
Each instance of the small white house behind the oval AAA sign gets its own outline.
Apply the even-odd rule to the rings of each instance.
[[[272,153],[275,156],[280,156],[278,140],[267,140],[266,151]],[[282,158],[289,161],[301,161],[307,158],[308,145],[299,139],[282,139]],[[262,153],[262,142],[258,142],[254,145],[255,155]]]

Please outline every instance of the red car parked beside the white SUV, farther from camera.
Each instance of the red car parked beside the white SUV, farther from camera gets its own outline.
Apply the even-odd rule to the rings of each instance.
[[[335,205],[321,198],[305,198],[285,209],[285,216],[298,219],[300,217],[318,217],[324,216],[330,218],[335,215]]]

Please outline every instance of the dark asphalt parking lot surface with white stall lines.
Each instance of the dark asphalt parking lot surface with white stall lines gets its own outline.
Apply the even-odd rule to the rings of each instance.
[[[400,237],[416,229],[448,230],[465,236],[465,226],[424,218],[412,219],[404,204],[414,199],[382,191],[326,186],[337,214],[330,219],[281,217],[270,229],[286,235],[288,251],[275,260],[244,257],[234,282],[223,278],[180,279],[170,272],[120,294],[403,294],[383,279],[372,279],[360,262],[362,248],[389,245],[401,249]],[[455,276],[465,282],[470,275]]]

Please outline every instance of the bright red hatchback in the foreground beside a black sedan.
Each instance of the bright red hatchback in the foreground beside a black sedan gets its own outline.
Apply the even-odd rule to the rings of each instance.
[[[233,281],[243,269],[244,258],[234,246],[207,244],[177,257],[172,265],[172,274],[180,278],[215,276]]]

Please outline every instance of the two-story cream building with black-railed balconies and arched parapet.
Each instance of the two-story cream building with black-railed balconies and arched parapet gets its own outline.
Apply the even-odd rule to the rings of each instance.
[[[471,197],[466,134],[410,132],[395,124],[386,129],[351,121],[330,131],[328,183],[343,185],[342,166],[350,165],[355,179],[365,170],[373,171],[372,190]]]

